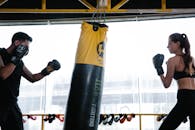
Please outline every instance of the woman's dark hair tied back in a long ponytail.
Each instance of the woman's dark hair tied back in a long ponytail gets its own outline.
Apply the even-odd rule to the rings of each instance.
[[[180,47],[184,49],[184,63],[185,69],[189,69],[189,64],[192,62],[191,52],[190,52],[190,43],[186,34],[182,33],[173,33],[169,36],[170,40],[173,42],[180,42]],[[193,65],[194,68],[194,65]]]

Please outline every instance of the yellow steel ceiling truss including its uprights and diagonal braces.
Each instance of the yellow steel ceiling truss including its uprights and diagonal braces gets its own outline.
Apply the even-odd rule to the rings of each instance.
[[[0,4],[7,2],[8,0],[0,0]],[[97,0],[97,3],[100,0]],[[166,0],[161,0],[161,8],[159,9],[121,9],[121,7],[126,4],[129,0],[120,0],[116,5],[111,7],[112,0],[101,0],[106,2],[102,8],[97,5],[94,7],[87,0],[79,0],[88,9],[47,9],[47,0],[42,0],[42,6],[40,9],[29,9],[29,8],[0,8],[0,13],[195,13],[195,8],[185,8],[185,9],[167,9]],[[99,3],[100,4],[100,3]]]

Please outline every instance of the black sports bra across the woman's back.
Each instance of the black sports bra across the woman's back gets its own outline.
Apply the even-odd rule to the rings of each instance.
[[[195,78],[195,73],[192,75],[186,73],[185,71],[175,71],[173,78],[175,80],[181,79],[181,78]]]

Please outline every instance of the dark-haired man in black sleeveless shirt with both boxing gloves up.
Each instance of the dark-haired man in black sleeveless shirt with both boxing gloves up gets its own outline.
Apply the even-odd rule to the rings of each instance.
[[[36,82],[60,69],[57,60],[50,61],[40,73],[32,74],[22,58],[28,54],[32,38],[23,32],[12,37],[12,44],[0,48],[0,126],[2,130],[23,130],[22,113],[17,104],[21,76]]]

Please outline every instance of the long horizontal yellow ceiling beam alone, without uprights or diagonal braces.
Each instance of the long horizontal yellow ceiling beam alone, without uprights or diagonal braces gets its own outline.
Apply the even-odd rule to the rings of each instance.
[[[0,13],[195,13],[195,8],[188,9],[7,9],[0,8]]]

